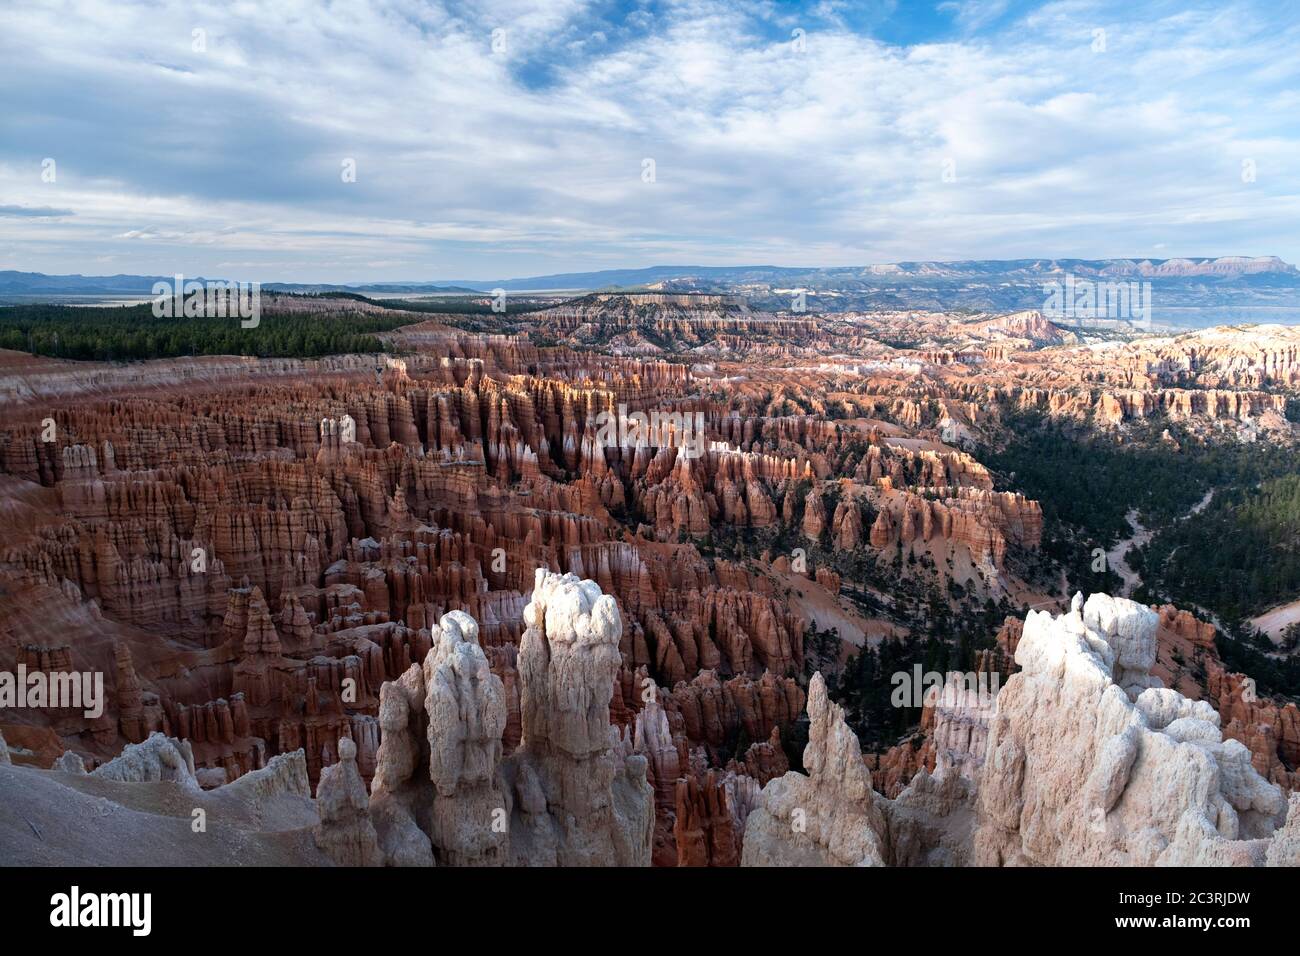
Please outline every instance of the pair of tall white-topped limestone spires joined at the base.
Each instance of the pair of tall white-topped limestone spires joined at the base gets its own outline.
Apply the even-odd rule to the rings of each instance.
[[[538,570],[519,650],[521,741],[503,757],[507,696],[463,611],[380,691],[369,814],[390,865],[647,866],[646,758],[610,724],[618,604]]]

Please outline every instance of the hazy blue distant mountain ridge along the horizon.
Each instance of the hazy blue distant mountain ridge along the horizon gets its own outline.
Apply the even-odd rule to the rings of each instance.
[[[653,293],[742,297],[759,311],[1020,312],[1041,310],[1052,282],[1150,284],[1160,325],[1300,324],[1300,271],[1277,256],[1175,259],[970,259],[876,265],[651,265],[525,278],[437,282],[263,282],[266,291],[382,297],[536,293]],[[0,272],[0,303],[60,295],[148,295],[170,276],[44,276]]]

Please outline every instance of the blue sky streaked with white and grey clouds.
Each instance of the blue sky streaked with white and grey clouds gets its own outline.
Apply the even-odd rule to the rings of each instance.
[[[0,269],[1300,260],[1300,4],[0,5]]]

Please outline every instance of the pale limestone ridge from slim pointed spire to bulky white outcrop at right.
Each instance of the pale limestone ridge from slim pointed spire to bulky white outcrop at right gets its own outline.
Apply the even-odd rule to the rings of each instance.
[[[1031,611],[1020,672],[992,705],[945,688],[936,770],[894,800],[814,676],[809,773],[763,788],[744,865],[1296,865],[1300,795],[1288,808],[1208,702],[1152,676],[1157,624],[1106,594]]]

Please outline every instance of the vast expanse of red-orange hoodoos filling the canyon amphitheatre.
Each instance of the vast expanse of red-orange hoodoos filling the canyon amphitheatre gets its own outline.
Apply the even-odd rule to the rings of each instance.
[[[836,597],[862,593],[841,579],[852,561],[909,554],[935,559],[909,575],[941,579],[950,558],[1011,591],[1006,554],[1039,546],[1041,510],[994,492],[945,437],[953,427],[976,434],[1036,407],[1080,421],[1100,411],[1114,427],[1165,415],[1206,433],[1266,428],[1282,397],[1264,389],[1300,381],[1286,330],[1044,349],[1060,332],[1028,313],[757,323],[697,297],[598,297],[528,329],[508,323],[507,334],[408,326],[391,336],[400,359],[0,355],[0,667],[68,663],[112,687],[100,721],[32,715],[5,724],[10,744],[95,763],[161,731],[188,741],[205,783],[300,747],[315,782],[346,737],[368,780],[380,688],[463,610],[502,683],[510,756],[524,736],[534,572],[573,572],[624,622],[610,719],[633,739],[641,727],[663,862],[676,856],[677,780],[706,793],[701,766],[770,779],[784,762],[774,734],[802,711],[789,555],[755,559],[774,541],[800,542]],[[647,329],[689,347],[690,363],[640,354]],[[584,349],[538,347],[534,330]],[[703,453],[672,428],[608,445],[598,416],[620,405],[701,415]],[[672,688],[660,715],[647,680]],[[1275,779],[1294,773],[1294,717],[1216,680],[1206,695],[1227,732],[1260,761],[1275,754]],[[897,777],[918,761],[898,757]],[[689,786],[686,797],[707,819]]]

